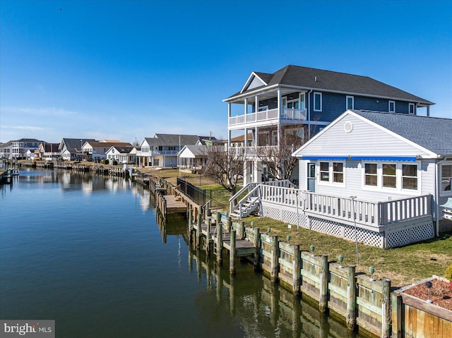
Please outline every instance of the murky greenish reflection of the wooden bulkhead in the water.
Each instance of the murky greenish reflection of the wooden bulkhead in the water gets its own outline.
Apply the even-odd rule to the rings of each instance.
[[[159,228],[164,242],[172,234],[177,235],[179,241],[181,238],[187,241],[186,228],[177,222],[160,223]],[[211,299],[196,301],[206,323],[218,322],[221,315],[227,314],[239,322],[246,333],[244,337],[364,337],[320,313],[315,303],[271,283],[261,272],[254,272],[248,262],[237,264],[236,274],[231,275],[227,263],[219,265],[215,256],[208,257],[205,251],[194,248],[189,248],[188,253],[190,272],[196,272],[198,282],[206,284],[206,290],[215,294],[214,311],[208,306]],[[226,256],[223,261],[228,261]],[[268,336],[268,332],[274,332],[274,336]]]

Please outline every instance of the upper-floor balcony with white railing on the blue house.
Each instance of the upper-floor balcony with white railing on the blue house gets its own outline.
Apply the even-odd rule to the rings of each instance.
[[[306,121],[306,109],[266,109],[254,113],[231,116],[228,121],[229,128],[244,128],[267,126],[279,123],[302,123]]]

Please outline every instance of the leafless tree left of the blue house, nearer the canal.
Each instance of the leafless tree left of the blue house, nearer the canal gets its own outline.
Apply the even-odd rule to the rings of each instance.
[[[243,176],[244,149],[230,147],[225,150],[225,147],[220,145],[211,145],[204,149],[207,163],[203,175],[213,179],[234,195],[239,178]]]

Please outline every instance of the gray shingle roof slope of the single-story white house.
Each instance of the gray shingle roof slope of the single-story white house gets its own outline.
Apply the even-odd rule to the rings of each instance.
[[[353,112],[436,154],[452,155],[452,119],[381,111]]]

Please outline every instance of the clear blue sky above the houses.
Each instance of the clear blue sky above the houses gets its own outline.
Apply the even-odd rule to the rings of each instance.
[[[452,118],[452,1],[0,0],[0,141],[227,138],[251,71],[370,76]]]

